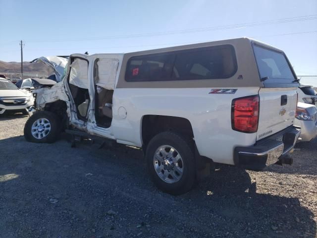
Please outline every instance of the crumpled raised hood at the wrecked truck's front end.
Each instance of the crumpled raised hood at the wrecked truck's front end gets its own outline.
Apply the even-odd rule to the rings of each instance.
[[[68,63],[68,59],[66,59],[65,57],[60,57],[60,56],[47,56],[47,57],[40,57],[31,62],[40,62],[40,61],[44,62],[46,65],[49,65],[53,68],[57,82],[60,82],[62,80],[65,67]]]

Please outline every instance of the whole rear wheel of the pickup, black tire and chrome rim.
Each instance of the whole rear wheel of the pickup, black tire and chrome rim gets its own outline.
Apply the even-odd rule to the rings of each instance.
[[[179,195],[188,192],[196,178],[193,142],[174,132],[154,136],[146,150],[148,171],[164,192]]]

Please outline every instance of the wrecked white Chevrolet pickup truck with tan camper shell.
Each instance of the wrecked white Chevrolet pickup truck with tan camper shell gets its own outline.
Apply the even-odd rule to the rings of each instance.
[[[181,194],[208,162],[291,164],[298,85],[281,50],[249,38],[74,54],[59,83],[35,91],[24,135],[51,143],[67,129],[140,147],[155,184]]]

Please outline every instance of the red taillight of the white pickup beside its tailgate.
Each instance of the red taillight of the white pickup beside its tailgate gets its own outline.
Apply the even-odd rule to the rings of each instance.
[[[246,133],[257,132],[259,108],[259,95],[233,99],[231,106],[232,129]]]

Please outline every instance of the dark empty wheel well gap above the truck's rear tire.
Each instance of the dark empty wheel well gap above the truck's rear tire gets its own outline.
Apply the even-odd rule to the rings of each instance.
[[[162,131],[175,131],[186,137],[193,138],[193,128],[188,119],[171,117],[146,115],[142,119],[142,141],[146,146],[151,138]]]

